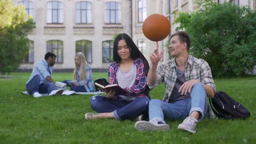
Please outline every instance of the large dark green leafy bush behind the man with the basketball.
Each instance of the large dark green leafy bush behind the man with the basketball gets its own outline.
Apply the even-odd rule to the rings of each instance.
[[[215,76],[246,75],[256,65],[256,12],[232,3],[200,0],[201,8],[179,13],[190,36],[190,54],[206,60]]]

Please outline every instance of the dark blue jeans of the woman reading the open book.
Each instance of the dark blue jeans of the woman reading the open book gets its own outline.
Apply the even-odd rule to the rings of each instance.
[[[115,119],[133,119],[139,115],[147,115],[149,99],[139,97],[133,101],[112,100],[103,95],[91,97],[91,108],[98,113],[113,112]]]

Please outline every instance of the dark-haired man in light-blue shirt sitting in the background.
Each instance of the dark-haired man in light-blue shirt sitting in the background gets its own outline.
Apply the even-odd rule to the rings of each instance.
[[[61,95],[63,89],[55,90],[55,84],[52,79],[53,65],[55,64],[56,55],[47,52],[44,60],[35,63],[30,79],[26,82],[26,91],[35,98],[41,97],[40,93],[49,93],[49,95]]]

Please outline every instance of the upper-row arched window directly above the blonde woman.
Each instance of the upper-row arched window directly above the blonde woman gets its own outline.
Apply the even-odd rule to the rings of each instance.
[[[92,3],[80,1],[75,3],[75,23],[92,23]]]

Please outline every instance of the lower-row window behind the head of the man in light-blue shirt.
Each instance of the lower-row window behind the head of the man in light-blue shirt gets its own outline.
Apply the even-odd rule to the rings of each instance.
[[[61,40],[49,40],[46,42],[46,51],[57,55],[56,63],[63,62],[63,42]]]

